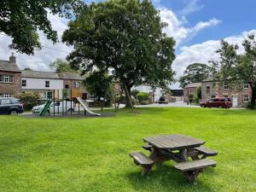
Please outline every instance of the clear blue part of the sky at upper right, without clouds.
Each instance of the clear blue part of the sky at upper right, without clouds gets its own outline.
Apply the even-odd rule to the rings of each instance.
[[[157,3],[155,3],[157,2]],[[221,20],[218,26],[207,28],[199,32],[194,38],[186,42],[186,45],[199,44],[209,39],[221,39],[240,34],[255,28],[256,25],[256,1],[254,0],[160,0],[154,1],[156,7],[172,9],[178,18],[182,18],[185,9],[193,4],[191,12],[187,13],[188,23],[191,27],[201,20],[216,18]]]

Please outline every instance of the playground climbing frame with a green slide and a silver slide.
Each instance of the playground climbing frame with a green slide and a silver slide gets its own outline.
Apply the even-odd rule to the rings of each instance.
[[[40,116],[44,116],[47,113],[54,116],[77,114],[82,111],[80,110],[80,105],[84,108],[84,115],[90,113],[91,115],[101,116],[101,114],[90,110],[87,103],[81,98],[81,96],[84,96],[81,90],[48,90],[45,96],[47,101],[44,105],[38,106]]]

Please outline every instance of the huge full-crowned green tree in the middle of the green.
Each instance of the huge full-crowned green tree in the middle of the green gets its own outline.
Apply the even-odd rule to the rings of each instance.
[[[62,40],[73,45],[67,60],[85,72],[111,72],[127,99],[137,84],[167,86],[173,81],[173,38],[149,0],[91,3],[69,22]],[[130,102],[131,103],[131,102]]]

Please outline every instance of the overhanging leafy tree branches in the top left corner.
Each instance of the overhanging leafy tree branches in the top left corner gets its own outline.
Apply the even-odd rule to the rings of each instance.
[[[80,0],[1,0],[0,32],[12,38],[10,49],[32,55],[35,49],[41,49],[38,30],[53,43],[57,42],[57,32],[52,29],[48,13],[70,17],[71,10],[81,4]]]

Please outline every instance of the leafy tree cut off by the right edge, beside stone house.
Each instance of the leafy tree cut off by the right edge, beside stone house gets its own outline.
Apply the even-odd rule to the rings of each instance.
[[[231,86],[240,89],[241,84],[249,84],[252,89],[251,108],[255,108],[256,100],[256,40],[249,35],[242,43],[245,53],[238,54],[239,46],[221,41],[221,48],[217,50],[220,61],[212,61],[215,68],[215,80],[228,80]]]

